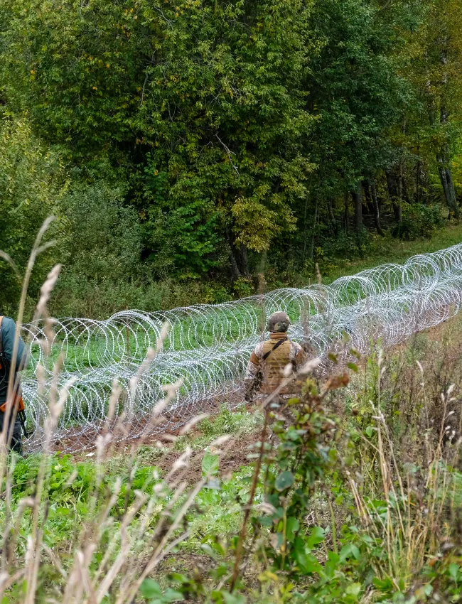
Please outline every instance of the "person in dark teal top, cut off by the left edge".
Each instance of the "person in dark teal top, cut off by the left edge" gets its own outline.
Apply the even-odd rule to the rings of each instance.
[[[6,411],[6,396],[8,393],[9,373],[11,366],[11,358],[13,357],[14,337],[16,332],[16,323],[9,317],[0,316],[0,431],[4,427],[5,411]],[[18,353],[16,355],[16,363],[14,370],[14,396],[12,399],[18,405],[16,414],[10,411],[10,421],[13,421],[14,426],[11,436],[9,448],[11,451],[16,451],[19,455],[23,452],[23,433],[26,431],[24,421],[24,404],[21,397],[21,384],[18,379],[18,372],[23,370],[28,363],[28,351],[23,340],[18,340]]]

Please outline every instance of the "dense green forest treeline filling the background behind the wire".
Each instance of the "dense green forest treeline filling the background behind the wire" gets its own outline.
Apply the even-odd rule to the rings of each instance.
[[[58,314],[219,301],[461,198],[459,0],[4,0],[0,249]],[[4,306],[18,282],[2,262]]]

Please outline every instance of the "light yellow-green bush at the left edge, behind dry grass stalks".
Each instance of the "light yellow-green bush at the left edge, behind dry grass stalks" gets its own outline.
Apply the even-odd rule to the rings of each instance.
[[[26,268],[38,229],[45,218],[59,215],[65,195],[67,174],[60,154],[46,149],[26,116],[6,118],[0,124],[0,249],[9,254],[20,272]],[[48,239],[61,239],[63,224],[51,226]],[[58,259],[56,248],[46,250],[33,271],[31,295],[38,293],[50,264]],[[21,282],[0,259],[1,313],[13,314],[17,307]]]

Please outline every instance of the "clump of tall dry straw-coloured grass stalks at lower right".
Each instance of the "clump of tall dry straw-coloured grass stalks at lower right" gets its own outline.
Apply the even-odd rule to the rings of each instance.
[[[406,354],[409,350],[402,352]],[[431,361],[441,370],[442,360]],[[387,377],[392,371],[394,375]],[[417,391],[412,390],[412,374]],[[369,400],[369,434],[373,431],[374,436],[361,432],[359,471],[347,472],[362,527],[387,551],[387,568],[375,568],[377,576],[385,573],[408,583],[419,576],[432,556],[438,555],[441,543],[450,539],[447,520],[456,517],[458,506],[455,469],[461,453],[461,412],[458,431],[448,425],[448,420],[456,413],[449,410],[450,404],[458,402],[460,406],[460,402],[452,396],[454,384],[436,396],[436,388],[444,387],[444,380],[433,374],[428,376],[432,378],[430,385],[426,377],[418,360],[409,367],[409,361],[401,359],[393,369],[385,365],[383,352],[379,351],[374,399]],[[403,401],[403,394],[409,400]],[[393,425],[394,416],[404,414],[404,407],[397,411],[397,401],[413,407],[408,411],[414,414],[414,426],[406,428],[414,431],[412,439],[400,438]]]

